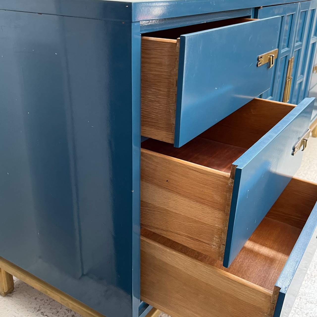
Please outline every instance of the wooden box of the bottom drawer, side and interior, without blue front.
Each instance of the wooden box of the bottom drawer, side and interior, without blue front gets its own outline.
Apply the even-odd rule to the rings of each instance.
[[[163,310],[165,308],[166,313],[176,317],[180,315],[190,316],[192,312],[200,315],[203,311],[205,313],[209,312],[209,314],[213,312],[212,316],[231,316],[231,314],[236,316],[272,315],[276,303],[275,283],[314,207],[316,197],[317,184],[292,179],[232,262],[230,268],[224,268],[222,262],[213,257],[199,253],[149,230],[142,229],[141,234],[146,239],[142,242],[144,249],[141,247],[141,267],[144,270],[141,270],[141,297],[151,305],[157,305],[156,307]],[[171,266],[166,266],[166,275],[163,273],[163,266],[161,266],[162,270],[158,272],[159,267],[151,262],[151,258],[148,256],[148,251],[152,248],[160,249],[162,252],[164,249],[164,252],[166,251],[166,254],[169,254],[171,266],[176,267],[178,266],[176,261],[182,261],[178,266],[179,276],[173,276],[172,280],[168,281],[168,279],[171,279],[168,277],[168,275],[171,275],[171,271],[168,272],[168,268],[171,268]],[[163,256],[163,253],[160,256]],[[173,255],[175,255],[175,258]],[[184,255],[186,257],[183,257]],[[152,260],[154,259],[152,258]],[[187,260],[189,262],[186,262]],[[162,259],[162,261],[168,262],[167,259]],[[175,261],[174,264],[173,261]],[[162,263],[160,264],[162,265]],[[151,267],[151,265],[155,266],[152,269],[154,268],[155,274],[158,274],[159,278],[167,279],[161,282],[162,287],[167,292],[164,296],[159,295],[159,285],[152,284],[154,290],[149,290],[148,282],[154,271],[151,272],[151,268],[147,267]],[[184,266],[186,272],[184,276],[181,273],[183,268],[180,268],[180,266]],[[204,275],[206,270],[209,276]],[[164,276],[160,274],[164,274]],[[197,288],[190,284],[185,286],[191,275],[196,279],[197,285],[201,284]],[[181,281],[183,279],[185,281]],[[210,285],[206,286],[205,283],[208,283],[209,279]],[[183,282],[184,285],[181,285]],[[160,284],[160,282],[158,283]],[[240,287],[236,286],[236,283]],[[189,293],[188,297],[186,294],[186,301],[190,300],[191,296],[196,299],[196,302],[188,302],[188,306],[184,310],[182,305],[187,305],[187,303],[182,302],[184,300],[182,293],[185,291],[178,291],[182,286],[186,287],[186,292]],[[199,293],[199,288],[205,288],[206,298]],[[173,292],[179,292],[180,294],[178,298],[180,305],[176,308],[166,301],[168,296],[173,298]],[[156,294],[155,299],[152,298],[153,294]],[[251,294],[256,294],[256,301],[252,302]],[[206,301],[208,296],[213,297],[209,297],[209,300]],[[215,301],[219,298],[228,304],[224,305],[225,307],[218,307]],[[236,298],[239,299],[240,304],[236,304]],[[194,307],[191,307],[191,305]],[[202,305],[203,308],[201,308]],[[190,310],[188,314],[187,309]],[[227,310],[230,311],[230,314]]]

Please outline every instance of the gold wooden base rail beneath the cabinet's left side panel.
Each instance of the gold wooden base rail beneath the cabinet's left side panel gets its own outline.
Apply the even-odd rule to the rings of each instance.
[[[19,268],[15,264],[7,261],[2,257],[0,257],[0,268],[1,270],[4,270],[9,274],[16,276],[19,280],[32,286],[33,288],[49,296],[55,301],[58,301],[62,305],[65,305],[66,307],[74,310],[76,313],[82,315],[83,317],[105,317],[104,315],[84,305],[80,301],[77,301],[68,294],[61,292],[59,289],[42,281],[41,279],[23,270],[22,268]]]

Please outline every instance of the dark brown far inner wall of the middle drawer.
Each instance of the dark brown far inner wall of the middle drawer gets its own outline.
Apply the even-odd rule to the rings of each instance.
[[[255,98],[200,137],[248,149],[294,107],[288,103]]]

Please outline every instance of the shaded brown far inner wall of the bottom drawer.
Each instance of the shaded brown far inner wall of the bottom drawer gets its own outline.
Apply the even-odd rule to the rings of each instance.
[[[267,217],[303,229],[317,200],[317,184],[292,178]]]

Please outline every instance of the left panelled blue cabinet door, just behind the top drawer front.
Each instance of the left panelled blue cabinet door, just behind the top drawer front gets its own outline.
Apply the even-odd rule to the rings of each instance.
[[[280,35],[278,39],[278,58],[274,65],[272,84],[269,90],[261,95],[261,98],[282,101],[285,86],[288,60],[292,57],[297,25],[299,3],[288,3],[270,7],[262,7],[256,10],[259,19],[270,16],[281,16]]]

